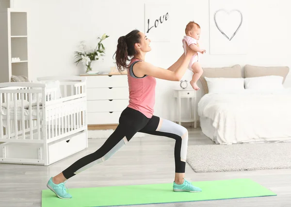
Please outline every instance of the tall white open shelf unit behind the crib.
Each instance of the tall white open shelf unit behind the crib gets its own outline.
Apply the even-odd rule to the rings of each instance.
[[[27,19],[24,9],[0,10],[0,82],[10,82],[12,75],[30,78]]]

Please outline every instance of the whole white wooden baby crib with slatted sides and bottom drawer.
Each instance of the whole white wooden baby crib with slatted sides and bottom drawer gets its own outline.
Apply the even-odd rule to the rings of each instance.
[[[0,163],[49,165],[88,147],[86,77],[0,83]]]

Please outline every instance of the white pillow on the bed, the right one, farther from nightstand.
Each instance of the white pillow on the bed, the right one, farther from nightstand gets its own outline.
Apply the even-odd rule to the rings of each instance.
[[[261,76],[244,79],[245,89],[259,92],[284,89],[282,76]]]

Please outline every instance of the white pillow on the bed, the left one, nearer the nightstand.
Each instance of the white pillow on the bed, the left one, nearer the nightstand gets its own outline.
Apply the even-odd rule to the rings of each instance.
[[[243,78],[207,78],[205,77],[209,93],[227,94],[244,90]]]

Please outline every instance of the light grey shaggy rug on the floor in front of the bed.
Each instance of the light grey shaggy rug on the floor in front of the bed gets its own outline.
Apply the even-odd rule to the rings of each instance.
[[[291,168],[291,143],[188,146],[187,160],[197,172]]]

